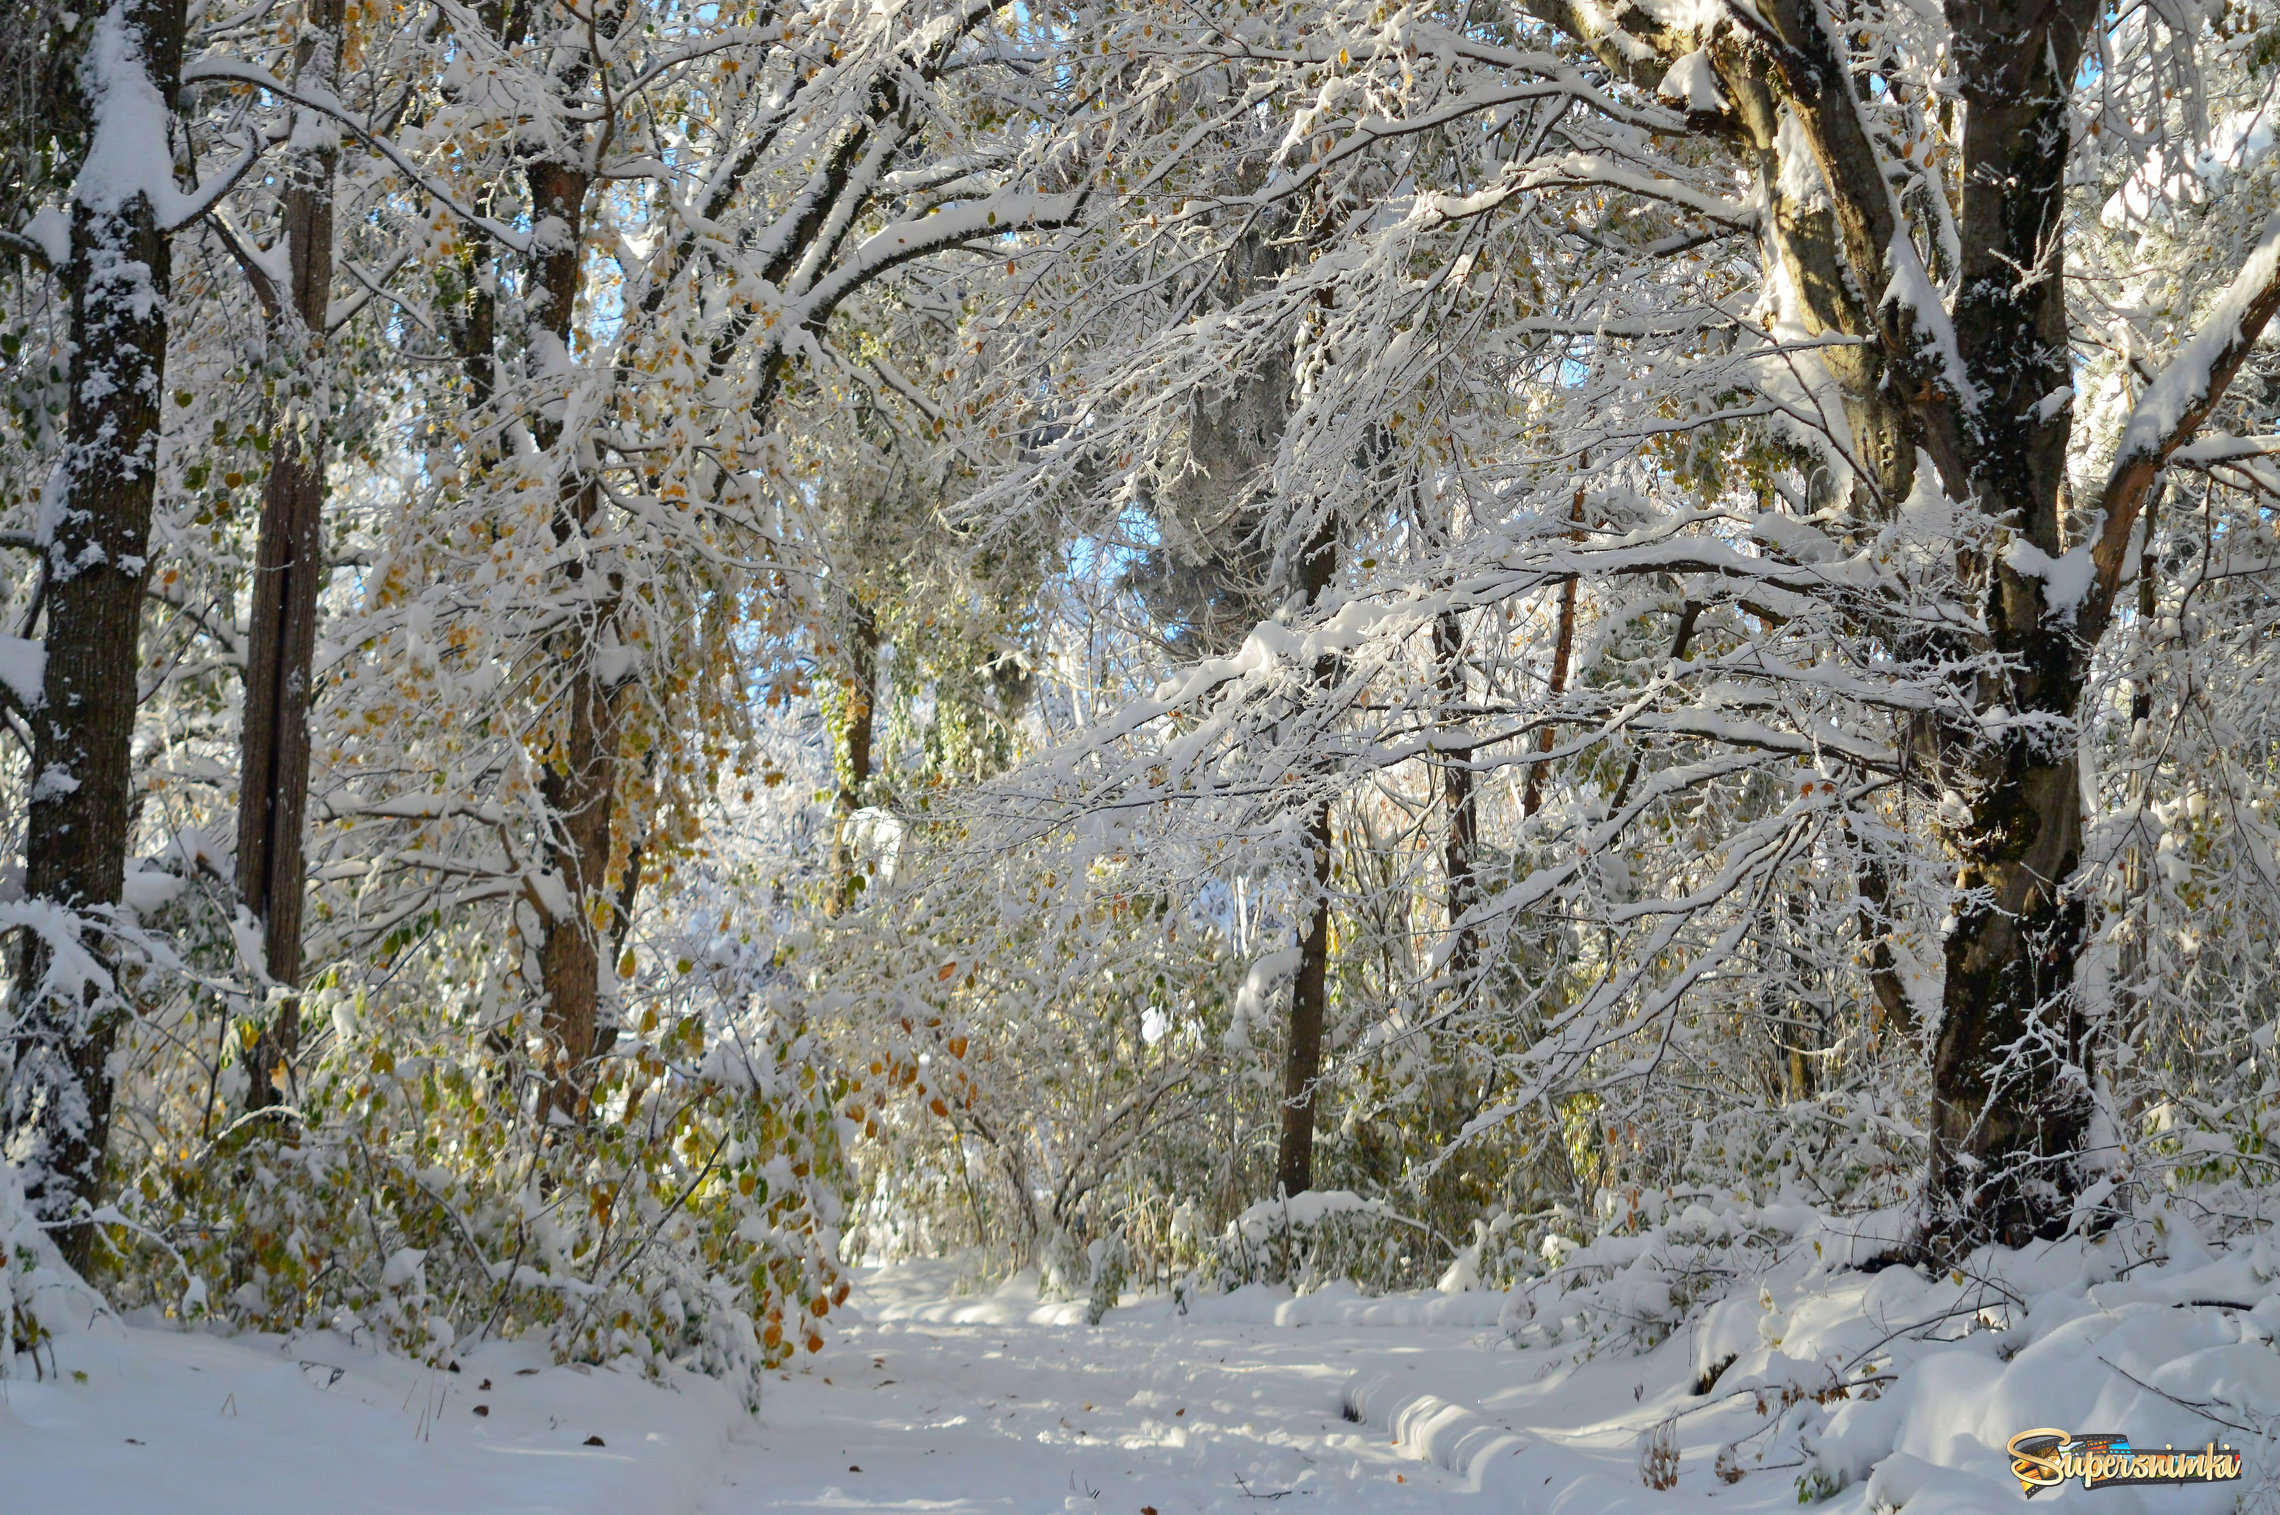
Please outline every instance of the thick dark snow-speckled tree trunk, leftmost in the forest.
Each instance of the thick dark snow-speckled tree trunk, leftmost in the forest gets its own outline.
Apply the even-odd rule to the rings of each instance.
[[[93,25],[82,89],[96,137],[128,130],[105,119],[105,96],[155,94],[171,116],[182,73],[180,0],[121,0]],[[112,27],[116,39],[107,37]],[[71,415],[41,543],[48,662],[41,703],[30,712],[25,894],[87,917],[119,904],[132,801],[169,290],[166,230],[148,192],[80,185],[62,274],[71,297]],[[62,922],[55,929],[71,931]],[[100,945],[96,958],[114,967]],[[30,1157],[32,1205],[55,1223],[98,1198],[121,1006],[116,988],[73,979],[55,940],[39,931],[25,931],[16,1006],[9,1145]],[[64,1225],[57,1241],[66,1259],[87,1264],[93,1228]]]

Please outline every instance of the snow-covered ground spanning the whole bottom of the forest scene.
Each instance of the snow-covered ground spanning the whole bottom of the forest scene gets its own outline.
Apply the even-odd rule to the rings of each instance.
[[[1550,1344],[1541,1307],[1539,1344],[1516,1348],[1525,1312],[1496,1294],[1252,1289],[1186,1316],[1135,1298],[1088,1328],[1033,1287],[960,1298],[948,1269],[905,1266],[864,1280],[860,1319],[771,1378],[757,1419],[705,1380],[659,1390],[518,1346],[433,1371],[326,1335],[98,1323],[59,1342],[62,1380],[0,1383],[0,1508],[1612,1515],[1794,1510],[1799,1474],[1824,1467],[1831,1515],[1945,1515],[2022,1508],[2002,1447],[2029,1426],[2216,1437],[2255,1460],[2246,1431],[2280,1412],[2262,1248],[2130,1266],[2068,1243],[1993,1287],[1815,1255],[1644,1355]],[[1667,1492],[1642,1478],[1658,1440],[1678,1453]],[[2102,1515],[2244,1494],[2063,1492]]]

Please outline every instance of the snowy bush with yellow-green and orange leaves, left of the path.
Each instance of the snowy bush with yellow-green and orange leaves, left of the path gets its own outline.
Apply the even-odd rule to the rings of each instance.
[[[545,1127],[515,1020],[317,988],[296,1097],[233,1120],[214,1066],[169,1056],[198,1040],[153,1031],[212,1045],[217,1020],[244,1022],[148,1018],[128,1081],[141,1157],[105,1228],[114,1296],[178,1312],[187,1266],[251,1328],[372,1332],[433,1362],[534,1335],[757,1394],[846,1298],[846,1079],[766,1006],[723,999],[709,965],[629,988],[586,1120]]]

